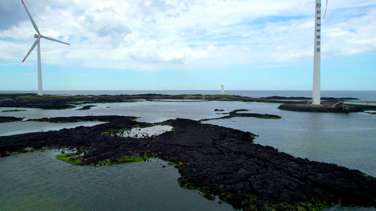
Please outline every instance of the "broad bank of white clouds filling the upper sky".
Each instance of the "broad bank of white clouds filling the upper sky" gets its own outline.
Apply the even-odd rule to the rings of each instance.
[[[43,35],[71,44],[42,40],[43,63],[160,70],[299,63],[313,55],[313,0],[24,2]],[[35,33],[22,5],[5,6],[15,5],[21,17],[0,26],[0,59],[9,63],[23,59]],[[323,58],[376,52],[374,17],[373,0],[329,2]],[[26,64],[35,60],[33,52]]]

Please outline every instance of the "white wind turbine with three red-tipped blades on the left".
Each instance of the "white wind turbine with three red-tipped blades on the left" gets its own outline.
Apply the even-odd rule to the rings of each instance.
[[[36,41],[34,42],[32,47],[30,48],[29,52],[26,54],[26,56],[25,56],[24,60],[22,60],[22,62],[24,62],[26,60],[26,58],[29,56],[31,51],[33,51],[35,46],[38,45],[38,95],[42,96],[43,95],[43,89],[42,89],[42,67],[41,67],[41,44],[40,44],[39,40],[41,38],[45,38],[45,39],[49,39],[49,40],[52,40],[52,41],[55,41],[55,42],[61,42],[61,43],[67,44],[67,45],[70,45],[70,44],[68,44],[66,42],[59,41],[57,39],[53,39],[53,38],[41,35],[41,33],[39,32],[38,27],[36,26],[33,18],[31,17],[29,11],[27,10],[25,3],[23,2],[23,0],[21,0],[21,1],[22,1],[23,5],[26,9],[27,15],[29,15],[30,21],[33,24],[34,29],[36,30],[36,32],[38,32],[38,35],[34,35],[34,38],[36,38]]]

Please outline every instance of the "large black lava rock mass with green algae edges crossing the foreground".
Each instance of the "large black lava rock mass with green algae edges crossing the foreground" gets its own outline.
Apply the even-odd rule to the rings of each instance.
[[[190,119],[170,119],[172,131],[148,138],[108,135],[109,132],[155,124],[130,116],[84,116],[32,121],[104,121],[76,127],[0,138],[2,157],[30,150],[76,148],[76,164],[121,163],[150,157],[177,163],[185,188],[228,202],[243,210],[320,210],[341,199],[376,206],[376,180],[359,170],[309,161],[254,144],[255,134]],[[84,152],[84,155],[80,153]],[[130,160],[127,160],[130,159]],[[133,160],[132,160],[133,159]],[[69,160],[68,160],[69,161]]]

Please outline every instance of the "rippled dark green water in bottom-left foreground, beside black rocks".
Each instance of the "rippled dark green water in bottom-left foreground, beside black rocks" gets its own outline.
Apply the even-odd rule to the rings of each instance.
[[[233,210],[180,188],[180,175],[167,161],[73,166],[56,160],[58,153],[1,158],[0,210]]]

